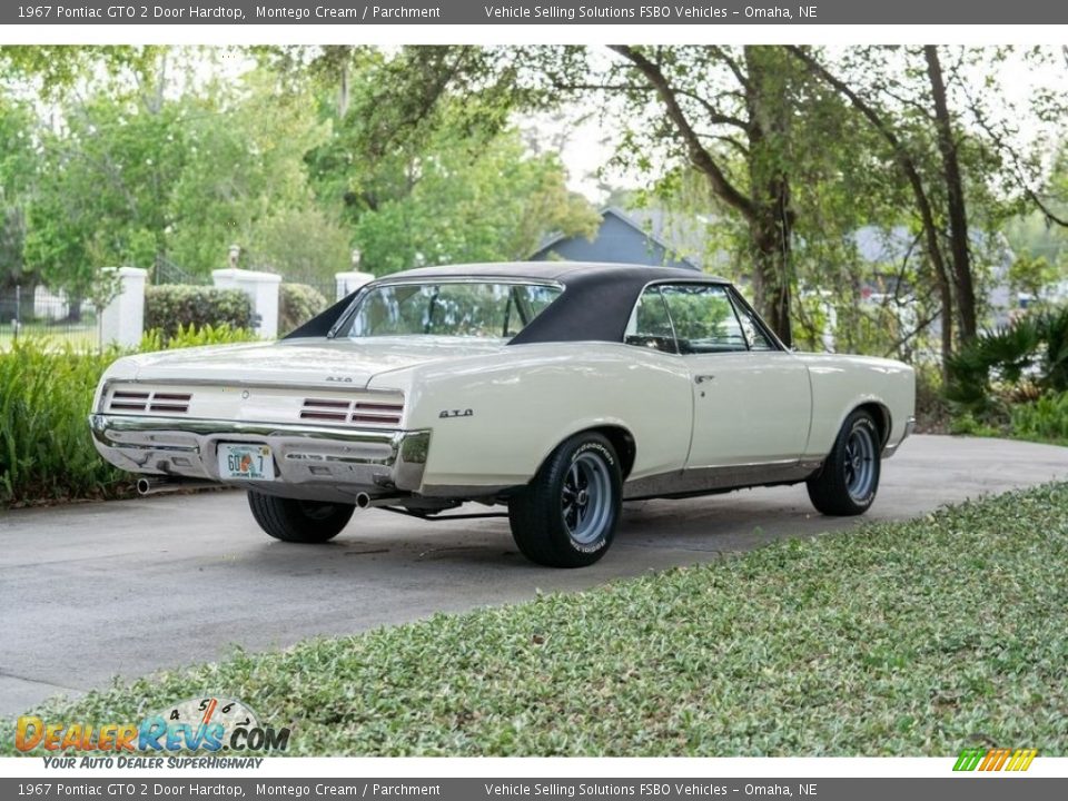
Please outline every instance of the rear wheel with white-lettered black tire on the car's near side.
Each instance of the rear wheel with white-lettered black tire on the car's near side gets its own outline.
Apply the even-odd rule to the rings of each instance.
[[[615,537],[622,487],[612,443],[593,432],[571,437],[508,502],[520,552],[546,567],[593,564]]]

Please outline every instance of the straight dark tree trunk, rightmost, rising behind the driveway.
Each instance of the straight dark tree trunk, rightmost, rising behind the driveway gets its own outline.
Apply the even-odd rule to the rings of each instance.
[[[934,127],[938,132],[938,150],[942,157],[942,176],[946,181],[946,204],[949,216],[949,249],[953,261],[953,284],[957,295],[957,314],[960,320],[960,340],[967,343],[976,337],[976,289],[971,275],[971,250],[968,243],[968,214],[965,204],[965,187],[957,158],[952,119],[946,100],[946,81],[938,58],[938,48],[923,48],[927,75],[931,81],[931,99],[934,101]]]

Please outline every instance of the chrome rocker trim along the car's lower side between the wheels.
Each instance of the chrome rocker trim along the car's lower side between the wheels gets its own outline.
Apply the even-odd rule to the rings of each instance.
[[[765,484],[795,484],[823,466],[822,462],[770,462],[724,467],[695,467],[660,473],[623,485],[623,500],[700,495]]]

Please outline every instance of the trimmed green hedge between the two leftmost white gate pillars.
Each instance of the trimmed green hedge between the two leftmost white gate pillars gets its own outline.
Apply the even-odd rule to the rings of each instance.
[[[177,334],[179,326],[204,328],[222,324],[231,328],[253,327],[253,303],[240,289],[180,284],[145,289],[145,330],[159,330],[164,342]]]

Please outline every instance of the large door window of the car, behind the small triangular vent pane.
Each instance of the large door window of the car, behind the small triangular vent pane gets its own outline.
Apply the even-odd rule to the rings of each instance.
[[[679,284],[662,288],[674,324],[679,353],[748,350],[749,344],[724,287]]]

